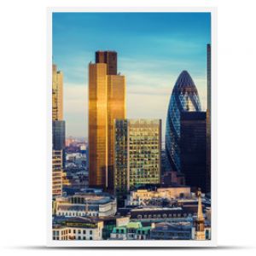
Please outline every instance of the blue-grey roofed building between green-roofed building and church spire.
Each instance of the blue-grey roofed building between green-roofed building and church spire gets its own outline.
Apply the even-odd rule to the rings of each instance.
[[[191,240],[192,227],[189,222],[155,224],[150,240]]]

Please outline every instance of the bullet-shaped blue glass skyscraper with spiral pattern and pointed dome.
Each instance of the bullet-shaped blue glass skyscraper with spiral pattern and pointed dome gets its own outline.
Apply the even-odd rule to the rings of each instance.
[[[181,172],[180,113],[182,111],[201,111],[195,83],[185,70],[177,78],[167,112],[166,168],[168,171]]]

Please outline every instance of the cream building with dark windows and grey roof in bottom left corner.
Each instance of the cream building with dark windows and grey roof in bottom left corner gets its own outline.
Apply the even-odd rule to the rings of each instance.
[[[54,218],[53,240],[102,240],[102,221],[92,218]]]

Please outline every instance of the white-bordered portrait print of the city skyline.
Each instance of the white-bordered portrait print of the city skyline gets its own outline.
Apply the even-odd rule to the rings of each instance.
[[[48,15],[48,245],[216,246],[216,10]]]

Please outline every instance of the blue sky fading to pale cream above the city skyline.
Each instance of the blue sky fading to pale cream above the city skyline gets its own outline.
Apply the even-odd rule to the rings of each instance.
[[[53,60],[64,73],[67,136],[87,137],[88,64],[118,52],[126,78],[127,118],[162,119],[179,73],[188,70],[207,106],[209,13],[54,13]]]

